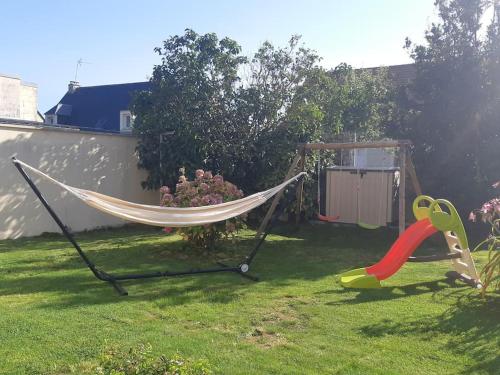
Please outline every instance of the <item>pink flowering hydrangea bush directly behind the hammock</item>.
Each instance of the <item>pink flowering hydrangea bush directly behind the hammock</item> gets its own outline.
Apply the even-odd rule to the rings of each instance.
[[[160,188],[161,205],[166,207],[200,207],[233,201],[243,197],[243,192],[221,175],[212,175],[210,171],[198,169],[195,179],[189,181],[184,168],[180,170],[179,182],[172,194],[168,186]],[[196,247],[213,248],[215,242],[221,238],[234,238],[238,229],[243,227],[240,218],[232,218],[223,222],[205,224],[203,226],[177,228],[185,240]],[[165,228],[166,233],[172,228]]]

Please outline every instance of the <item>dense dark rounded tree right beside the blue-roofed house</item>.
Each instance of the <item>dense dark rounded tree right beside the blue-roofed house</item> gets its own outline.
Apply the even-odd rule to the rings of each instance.
[[[155,51],[161,64],[153,69],[151,91],[139,93],[132,106],[139,167],[149,172],[144,185],[174,184],[183,166],[225,169],[218,156],[240,141],[232,121],[238,69],[246,62],[240,46],[187,29]],[[174,135],[160,143],[166,131]]]

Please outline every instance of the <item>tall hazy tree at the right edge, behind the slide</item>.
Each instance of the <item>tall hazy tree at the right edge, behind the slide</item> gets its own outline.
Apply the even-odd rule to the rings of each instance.
[[[487,5],[437,0],[440,21],[426,43],[407,41],[417,74],[400,103],[396,133],[413,141],[425,191],[456,201],[463,212],[484,199],[500,166],[498,16],[481,37]]]

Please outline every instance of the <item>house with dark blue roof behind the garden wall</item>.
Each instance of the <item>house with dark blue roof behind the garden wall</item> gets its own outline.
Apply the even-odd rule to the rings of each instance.
[[[135,92],[149,88],[149,82],[81,87],[78,82],[71,81],[59,103],[45,112],[45,123],[82,130],[130,132],[132,97]]]

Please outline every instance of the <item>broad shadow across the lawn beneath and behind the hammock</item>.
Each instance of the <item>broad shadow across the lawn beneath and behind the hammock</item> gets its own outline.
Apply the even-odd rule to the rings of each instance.
[[[212,254],[203,255],[183,249],[182,241],[157,233],[112,230],[83,233],[78,237],[89,257],[111,274],[199,269],[212,267],[218,260],[237,265],[255,245],[252,235],[247,234],[236,245],[225,243]],[[344,248],[349,243],[345,233],[333,234],[336,240],[333,243],[325,241],[324,231],[323,241],[314,231],[310,236],[296,237],[286,230],[277,233],[262,246],[250,270],[272,287],[330,276],[350,267],[352,260],[363,259]],[[332,246],[335,243],[337,246]],[[381,248],[385,248],[385,244]],[[238,274],[225,272],[126,281],[123,286],[130,295],[119,297],[111,285],[94,278],[71,245],[59,235],[4,241],[0,243],[0,253],[9,256],[8,267],[2,267],[0,272],[0,295],[55,293],[58,298],[43,305],[53,309],[165,298],[170,305],[190,301],[227,303],[240,298],[255,285]],[[367,258],[377,256],[372,254]],[[339,262],[343,258],[345,261]]]

